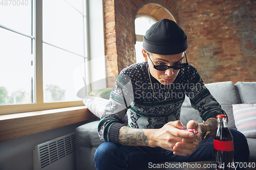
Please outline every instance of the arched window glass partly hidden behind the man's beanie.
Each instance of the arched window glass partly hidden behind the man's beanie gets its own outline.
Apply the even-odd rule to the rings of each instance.
[[[150,16],[137,16],[135,19],[135,34],[136,34],[136,62],[143,62],[144,58],[141,54],[143,37],[146,31],[154,24],[157,20]]]

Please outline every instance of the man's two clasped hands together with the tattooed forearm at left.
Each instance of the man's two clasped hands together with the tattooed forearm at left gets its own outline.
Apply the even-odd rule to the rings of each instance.
[[[214,118],[208,120],[211,119],[213,122]],[[216,127],[214,124],[210,125]],[[198,133],[181,130],[186,128],[196,130]],[[168,122],[160,129],[134,129],[123,126],[119,130],[118,141],[124,145],[161,147],[173,151],[175,155],[186,156],[192,154],[198,147],[205,129],[204,124],[198,124],[194,120],[190,120],[187,127],[179,120]]]

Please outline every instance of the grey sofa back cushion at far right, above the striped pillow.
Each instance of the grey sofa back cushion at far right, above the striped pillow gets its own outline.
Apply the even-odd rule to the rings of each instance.
[[[241,103],[256,103],[256,82],[237,82],[235,86]]]

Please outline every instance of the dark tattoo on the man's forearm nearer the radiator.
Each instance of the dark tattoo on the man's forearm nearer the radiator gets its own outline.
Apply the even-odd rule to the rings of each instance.
[[[147,136],[140,129],[123,127],[122,131],[119,131],[118,140],[120,144],[125,145],[135,145],[137,143],[148,145]]]

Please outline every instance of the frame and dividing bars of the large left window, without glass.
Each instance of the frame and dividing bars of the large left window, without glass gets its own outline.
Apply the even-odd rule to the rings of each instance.
[[[17,32],[15,30],[6,28],[2,25],[0,25],[1,28],[7,29],[9,31],[21,34],[23,36],[29,37],[31,39],[34,39],[34,58],[35,58],[35,96],[36,100],[35,103],[31,104],[13,104],[13,105],[1,105],[0,106],[0,115],[3,114],[11,114],[11,113],[23,113],[23,112],[32,112],[32,111],[39,111],[39,110],[50,110],[50,109],[58,109],[58,108],[67,108],[67,107],[75,107],[75,106],[84,106],[82,101],[72,101],[72,102],[54,102],[54,103],[44,103],[44,94],[43,94],[43,67],[42,67],[42,1],[43,0],[34,0],[33,1],[33,10],[34,10],[34,30],[35,30],[35,36],[25,35],[23,33]],[[84,17],[88,16],[88,1],[86,2],[86,8],[87,8],[87,14],[81,14],[84,15]],[[88,19],[86,19],[87,23],[86,26],[88,26]],[[102,21],[103,22],[103,21]],[[88,27],[87,27],[88,28]],[[88,29],[86,30],[87,34],[87,41],[88,41]],[[47,42],[44,42],[47,43]],[[49,43],[47,43],[49,44]],[[87,43],[88,44],[88,43]],[[49,44],[52,45],[52,44]],[[54,45],[53,45],[54,46]],[[57,46],[55,46],[57,47]],[[88,47],[88,46],[87,46]],[[64,49],[62,49],[64,50]],[[84,54],[84,59],[86,60],[89,54],[89,49],[87,50],[88,53]],[[72,52],[71,52],[72,53]]]

